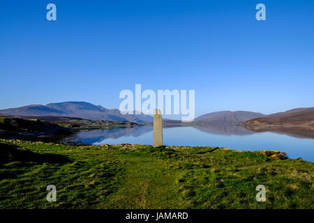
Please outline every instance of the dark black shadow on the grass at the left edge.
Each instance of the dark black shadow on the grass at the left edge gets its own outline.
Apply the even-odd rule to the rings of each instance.
[[[15,145],[0,143],[0,164],[6,162],[36,162],[38,164],[48,162],[65,164],[72,161],[63,155],[33,153],[32,151],[21,150]]]

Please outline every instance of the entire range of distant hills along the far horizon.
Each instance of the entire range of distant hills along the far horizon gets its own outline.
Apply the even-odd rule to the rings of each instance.
[[[61,116],[89,120],[128,121],[151,123],[153,117],[146,114],[121,114],[119,109],[106,109],[89,102],[59,102],[47,105],[27,105],[0,109],[3,116]],[[181,121],[163,119],[165,123]],[[265,115],[259,112],[221,111],[211,112],[195,118],[194,123],[205,125],[314,125],[314,107],[291,109],[286,112]]]

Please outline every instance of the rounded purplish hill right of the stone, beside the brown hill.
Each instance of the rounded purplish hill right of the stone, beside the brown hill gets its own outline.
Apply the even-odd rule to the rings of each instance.
[[[1,111],[0,111],[1,112]],[[265,115],[257,112],[246,112],[246,111],[222,111],[222,112],[212,112],[209,114],[204,114],[195,118],[198,123],[205,124],[239,124],[244,123],[252,118],[264,117]]]

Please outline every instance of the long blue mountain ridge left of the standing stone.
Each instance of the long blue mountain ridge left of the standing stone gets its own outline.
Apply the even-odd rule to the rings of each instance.
[[[121,114],[118,109],[105,109],[89,102],[59,102],[47,105],[28,105],[12,109],[2,109],[0,114],[19,116],[66,116],[91,120],[152,122],[153,117],[145,114]]]

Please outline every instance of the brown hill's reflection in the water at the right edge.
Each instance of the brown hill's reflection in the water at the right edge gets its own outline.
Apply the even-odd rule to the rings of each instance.
[[[247,125],[248,130],[254,132],[274,132],[278,134],[287,134],[290,137],[314,139],[314,126],[257,126]]]

